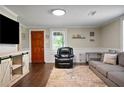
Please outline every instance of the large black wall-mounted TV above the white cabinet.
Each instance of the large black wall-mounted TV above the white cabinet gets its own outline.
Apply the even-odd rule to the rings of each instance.
[[[1,14],[0,44],[19,44],[19,23]]]

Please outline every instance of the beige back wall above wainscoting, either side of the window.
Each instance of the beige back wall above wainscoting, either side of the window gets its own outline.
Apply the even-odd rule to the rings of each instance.
[[[95,32],[94,37],[90,37],[90,32]],[[46,35],[49,38],[45,38],[45,46],[46,48],[50,48],[51,38],[50,38],[50,30],[46,30]],[[80,34],[86,39],[73,39],[73,35]],[[94,42],[91,42],[90,39],[94,39]],[[73,48],[95,48],[100,46],[100,32],[99,29],[96,28],[67,28],[67,46]]]

